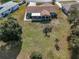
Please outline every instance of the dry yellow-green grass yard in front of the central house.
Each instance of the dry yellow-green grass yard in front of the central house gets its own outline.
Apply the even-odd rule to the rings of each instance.
[[[25,9],[26,6],[22,5],[18,11],[12,14],[13,17],[18,19],[19,24],[23,28],[23,43],[17,59],[29,59],[33,51],[41,52],[43,59],[70,59],[66,40],[70,29],[67,17],[61,11],[56,11],[58,13],[58,19],[50,22],[53,29],[52,32],[49,33],[50,37],[48,38],[45,37],[43,33],[46,24],[24,21]],[[59,39],[59,51],[55,48],[56,38]]]

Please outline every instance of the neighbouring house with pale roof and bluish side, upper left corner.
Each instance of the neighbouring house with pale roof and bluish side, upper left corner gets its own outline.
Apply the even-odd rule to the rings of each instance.
[[[0,5],[0,17],[5,17],[6,15],[10,14],[11,12],[17,10],[19,8],[18,3],[10,1]]]

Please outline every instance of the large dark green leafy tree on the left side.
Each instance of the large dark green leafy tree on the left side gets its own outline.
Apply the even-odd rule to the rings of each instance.
[[[2,41],[18,41],[21,38],[21,34],[22,27],[13,17],[9,17],[0,25],[0,40]]]

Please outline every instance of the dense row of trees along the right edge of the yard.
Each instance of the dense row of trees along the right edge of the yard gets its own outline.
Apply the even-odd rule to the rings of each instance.
[[[68,21],[71,25],[71,33],[68,37],[69,47],[72,52],[71,59],[79,59],[79,10],[77,7],[71,7]]]

